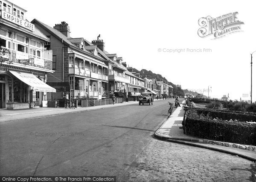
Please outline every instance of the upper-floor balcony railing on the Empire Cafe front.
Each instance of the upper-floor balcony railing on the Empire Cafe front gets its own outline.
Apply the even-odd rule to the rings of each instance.
[[[31,65],[39,68],[52,69],[52,60],[38,57],[32,54],[27,54],[21,51],[16,51],[9,48],[3,48],[6,54],[3,58],[6,61],[13,63],[20,63],[24,65]]]

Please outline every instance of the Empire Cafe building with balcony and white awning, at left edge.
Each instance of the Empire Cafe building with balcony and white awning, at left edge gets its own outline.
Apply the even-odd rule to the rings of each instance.
[[[47,82],[52,74],[50,42],[26,20],[26,10],[0,0],[0,108],[47,107]]]

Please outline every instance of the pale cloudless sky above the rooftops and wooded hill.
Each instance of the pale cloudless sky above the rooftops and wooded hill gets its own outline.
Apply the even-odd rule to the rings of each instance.
[[[54,26],[65,21],[70,36],[100,39],[105,50],[138,70],[161,74],[183,89],[215,98],[250,97],[251,53],[256,51],[256,1],[238,0],[10,0],[34,18]],[[198,20],[238,12],[241,31],[214,39],[199,37]],[[178,53],[170,50],[183,49]],[[195,49],[198,51],[194,51]],[[201,51],[200,51],[201,50]],[[208,51],[207,51],[208,50]],[[256,101],[256,53],[253,54]],[[250,98],[248,97],[248,100]]]

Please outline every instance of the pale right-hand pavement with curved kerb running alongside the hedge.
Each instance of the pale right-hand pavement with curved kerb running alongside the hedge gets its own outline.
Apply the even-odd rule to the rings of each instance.
[[[154,137],[169,142],[207,148],[213,151],[240,156],[242,158],[256,162],[256,146],[201,139],[183,134],[181,124],[183,120],[183,114],[183,106],[178,107],[172,113],[171,117],[169,117],[169,119],[167,119],[166,122],[164,122],[163,125],[158,128],[158,130],[154,133]]]

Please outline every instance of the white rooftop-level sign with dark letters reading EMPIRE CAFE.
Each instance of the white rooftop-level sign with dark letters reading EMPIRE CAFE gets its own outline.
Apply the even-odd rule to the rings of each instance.
[[[26,20],[22,20],[18,17],[15,17],[14,15],[7,13],[6,11],[2,11],[2,18],[7,20],[7,21],[10,21],[12,23],[15,23],[19,26],[22,26],[26,29],[29,29],[30,31],[35,30],[35,25],[34,24],[29,23]]]

